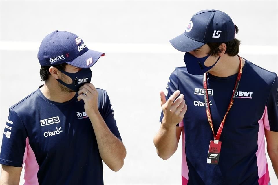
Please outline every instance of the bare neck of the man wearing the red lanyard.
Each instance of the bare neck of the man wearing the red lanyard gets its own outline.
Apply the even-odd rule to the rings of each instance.
[[[245,60],[243,58],[241,60],[242,66],[244,66]],[[228,77],[238,73],[239,64],[239,57],[237,55],[233,57],[222,56],[209,73],[217,77]]]

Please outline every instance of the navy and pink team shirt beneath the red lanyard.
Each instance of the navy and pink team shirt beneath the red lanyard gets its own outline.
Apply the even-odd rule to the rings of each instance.
[[[233,94],[237,74],[208,74],[208,97],[214,132],[220,126]],[[171,74],[165,95],[184,94],[187,111],[177,125],[182,130],[182,185],[269,185],[264,132],[278,131],[278,78],[246,60],[235,101],[226,118],[218,165],[207,164],[213,132],[206,116],[203,75],[186,67]],[[163,118],[163,112],[160,122]]]

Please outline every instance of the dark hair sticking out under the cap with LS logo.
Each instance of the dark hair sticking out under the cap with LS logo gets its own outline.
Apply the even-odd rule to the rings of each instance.
[[[238,32],[238,27],[235,25],[235,33],[237,34]],[[221,53],[219,46],[224,43],[227,46],[227,49],[225,51],[225,54],[228,54],[228,56],[236,56],[239,52],[239,45],[240,45],[240,40],[234,38],[231,41],[228,42],[214,42],[214,43],[207,43],[211,51],[208,53],[211,56],[215,56],[218,53]]]

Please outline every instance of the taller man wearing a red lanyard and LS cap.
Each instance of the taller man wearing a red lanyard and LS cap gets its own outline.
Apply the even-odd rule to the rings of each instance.
[[[160,92],[154,144],[166,160],[182,134],[183,185],[269,185],[265,136],[278,175],[278,77],[237,55],[237,32],[226,13],[202,10],[170,40],[186,67]]]

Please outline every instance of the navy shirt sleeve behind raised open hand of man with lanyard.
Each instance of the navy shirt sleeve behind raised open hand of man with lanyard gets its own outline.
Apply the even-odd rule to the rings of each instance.
[[[178,84],[178,77],[177,77],[177,70],[173,71],[173,73],[170,75],[166,90],[164,91],[165,96],[166,96],[166,101],[169,99],[169,97],[179,89],[179,84]],[[161,111],[161,116],[160,116],[160,122],[162,122],[163,119],[163,111]],[[178,127],[183,127],[183,121],[177,124]]]

